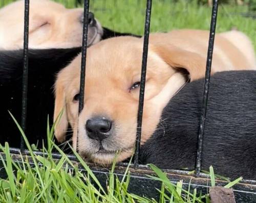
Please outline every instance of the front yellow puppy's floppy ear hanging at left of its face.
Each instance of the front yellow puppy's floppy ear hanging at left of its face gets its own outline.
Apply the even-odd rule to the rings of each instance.
[[[65,102],[63,82],[57,79],[55,83],[55,106],[54,106],[55,137],[59,142],[65,140],[68,129],[68,117]]]

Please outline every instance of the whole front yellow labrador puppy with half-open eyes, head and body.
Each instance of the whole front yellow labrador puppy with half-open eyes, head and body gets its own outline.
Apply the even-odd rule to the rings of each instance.
[[[175,30],[150,36],[147,59],[142,137],[145,143],[159,123],[161,112],[175,93],[191,80],[205,75],[208,31]],[[239,37],[240,41],[234,43]],[[249,46],[248,46],[249,45]],[[108,164],[132,155],[136,139],[137,111],[143,39],[116,37],[90,47],[87,55],[84,108],[78,116],[81,55],[60,71],[55,84],[55,135],[65,140],[68,124],[73,143],[92,161]],[[255,69],[249,39],[240,32],[216,35],[212,71]],[[78,132],[78,134],[77,134]]]

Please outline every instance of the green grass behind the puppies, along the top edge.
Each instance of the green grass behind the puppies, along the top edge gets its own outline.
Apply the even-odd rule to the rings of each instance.
[[[55,0],[68,8],[75,7],[75,0]],[[13,0],[2,0],[2,6]],[[120,32],[143,34],[145,0],[91,0],[90,10],[101,24]],[[187,3],[190,2],[190,3]],[[172,29],[209,29],[211,8],[198,5],[197,1],[154,0],[152,5],[151,32],[165,32]],[[1,5],[1,3],[0,3]],[[217,32],[236,27],[245,32],[256,49],[256,20],[239,13],[247,12],[247,6],[221,4],[219,6]]]

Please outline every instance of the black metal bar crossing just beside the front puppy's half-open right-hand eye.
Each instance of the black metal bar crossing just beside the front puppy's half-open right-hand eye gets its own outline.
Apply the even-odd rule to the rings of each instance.
[[[140,137],[141,137],[144,92],[145,92],[145,80],[146,80],[148,38],[150,36],[151,7],[152,7],[152,0],[147,0],[147,2],[146,2],[145,28],[144,28],[144,44],[143,44],[142,65],[141,65],[141,78],[140,78],[139,109],[138,109],[138,117],[137,117],[137,133],[136,133],[135,157],[134,157],[134,167],[135,168],[138,167],[138,162],[139,162]]]

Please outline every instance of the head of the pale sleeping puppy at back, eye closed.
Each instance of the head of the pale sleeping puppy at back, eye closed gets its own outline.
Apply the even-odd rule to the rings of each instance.
[[[30,1],[29,47],[70,48],[82,42],[82,9],[66,9],[49,0]],[[23,47],[24,1],[0,10],[0,48]],[[97,43],[102,35],[100,24],[89,15],[88,44]]]

